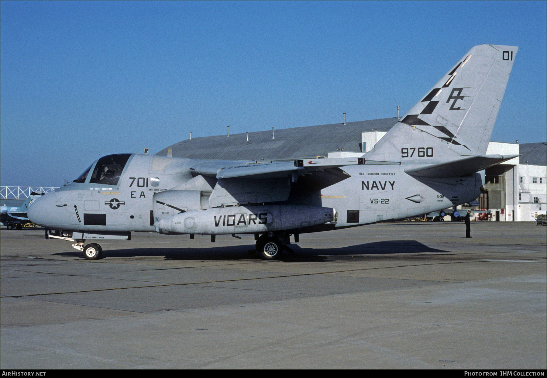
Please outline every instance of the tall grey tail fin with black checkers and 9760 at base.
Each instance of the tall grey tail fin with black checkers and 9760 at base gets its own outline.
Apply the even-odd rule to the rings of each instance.
[[[517,50],[486,44],[469,50],[366,158],[392,160],[418,148],[430,148],[431,161],[485,154]]]

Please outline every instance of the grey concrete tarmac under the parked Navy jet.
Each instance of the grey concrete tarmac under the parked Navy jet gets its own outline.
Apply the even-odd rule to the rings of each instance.
[[[546,230],[397,222],[300,235],[132,234],[88,261],[0,231],[2,369],[545,369]]]

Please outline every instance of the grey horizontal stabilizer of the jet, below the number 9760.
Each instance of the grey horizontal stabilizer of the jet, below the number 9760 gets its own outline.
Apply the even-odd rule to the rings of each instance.
[[[426,165],[405,170],[411,176],[417,177],[457,177],[482,171],[520,155],[479,155],[453,160],[441,164]]]

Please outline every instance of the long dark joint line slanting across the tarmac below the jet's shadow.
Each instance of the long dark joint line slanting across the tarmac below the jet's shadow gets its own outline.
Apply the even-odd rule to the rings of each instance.
[[[523,259],[523,260],[531,260],[531,259]],[[547,260],[547,258],[541,259],[541,260]],[[108,290],[143,289],[143,288],[149,288],[149,287],[182,286],[182,285],[195,285],[195,284],[216,283],[216,282],[265,280],[265,279],[267,279],[267,278],[286,278],[286,277],[298,277],[298,276],[314,276],[314,275],[321,275],[321,274],[343,273],[343,272],[351,272],[351,271],[359,271],[359,270],[389,269],[389,268],[394,268],[394,267],[409,267],[409,266],[424,266],[424,265],[444,265],[444,264],[464,264],[464,263],[490,263],[490,262],[492,262],[492,261],[473,260],[473,261],[449,261],[449,262],[447,262],[447,263],[431,263],[431,264],[413,264],[413,265],[380,266],[380,267],[367,267],[367,268],[360,268],[360,269],[345,269],[345,270],[327,271],[327,272],[316,272],[316,273],[299,273],[299,274],[286,275],[286,276],[269,276],[269,277],[254,277],[254,278],[236,278],[236,279],[234,279],[234,280],[218,280],[218,281],[203,281],[203,282],[185,282],[185,283],[166,283],[166,284],[159,284],[159,285],[132,286],[132,287],[124,287],[124,288],[107,288],[107,289],[78,290],[78,291],[75,291],[75,292],[57,292],[57,293],[22,294],[22,295],[0,295],[0,298],[22,298],[22,297],[24,297],[24,296],[57,295],[57,294],[76,294],[76,293],[89,293],[89,292],[104,292],[104,291],[108,291]],[[443,282],[444,282],[444,281],[443,281]]]

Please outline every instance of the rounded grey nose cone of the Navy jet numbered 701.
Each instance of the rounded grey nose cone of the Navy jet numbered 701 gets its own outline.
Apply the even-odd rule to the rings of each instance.
[[[69,208],[70,204],[62,201],[62,195],[48,193],[37,198],[28,207],[27,216],[32,223],[45,228],[74,229],[79,226]]]

